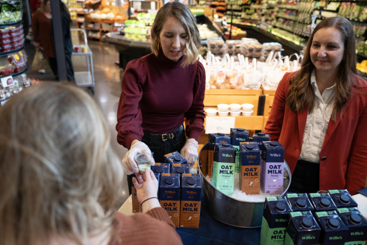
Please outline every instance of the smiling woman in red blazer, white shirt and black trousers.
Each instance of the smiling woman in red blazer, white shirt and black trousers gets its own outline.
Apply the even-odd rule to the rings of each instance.
[[[352,25],[324,19],[310,36],[301,70],[280,81],[265,126],[286,149],[290,191],[346,188],[353,195],[365,187],[367,82],[356,73]]]

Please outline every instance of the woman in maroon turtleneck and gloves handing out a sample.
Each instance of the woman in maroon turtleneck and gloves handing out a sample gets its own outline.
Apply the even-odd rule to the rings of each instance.
[[[204,130],[205,70],[196,61],[200,35],[185,5],[160,8],[151,49],[127,64],[122,79],[116,129],[117,141],[130,149],[122,161],[127,174],[139,171],[139,153],[153,152],[155,162],[163,162],[163,155],[177,150],[193,165]]]

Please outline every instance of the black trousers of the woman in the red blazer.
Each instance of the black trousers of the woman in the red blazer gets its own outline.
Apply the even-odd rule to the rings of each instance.
[[[298,160],[292,174],[290,192],[315,193],[319,191],[320,164]]]

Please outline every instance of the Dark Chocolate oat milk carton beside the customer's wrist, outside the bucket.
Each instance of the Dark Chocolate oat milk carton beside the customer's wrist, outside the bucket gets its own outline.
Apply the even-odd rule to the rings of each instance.
[[[172,222],[179,227],[180,179],[179,174],[161,174],[159,185],[160,205],[167,210]]]

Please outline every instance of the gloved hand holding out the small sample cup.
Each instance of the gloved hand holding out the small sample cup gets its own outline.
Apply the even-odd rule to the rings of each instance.
[[[139,154],[144,154],[146,159],[150,158],[150,165],[155,165],[152,152],[150,151],[149,147],[145,145],[145,143],[138,141],[130,147],[130,150],[127,151],[126,155],[122,159],[122,166],[126,174],[130,175],[139,172],[138,165],[134,160],[135,156]]]

